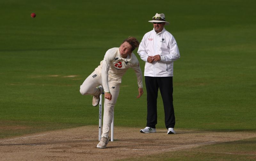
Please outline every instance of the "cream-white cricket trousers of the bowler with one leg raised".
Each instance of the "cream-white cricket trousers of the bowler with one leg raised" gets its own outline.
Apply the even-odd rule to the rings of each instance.
[[[91,75],[89,75],[84,83],[80,86],[80,93],[83,95],[95,95],[97,94],[96,87],[102,85],[101,73],[98,71],[93,71]],[[114,106],[116,104],[116,100],[119,94],[120,84],[116,84],[116,82],[109,80],[108,87],[110,93],[112,94],[112,100],[109,101],[104,97],[104,113],[103,113],[103,127],[102,127],[102,135],[101,137],[108,137],[109,130],[111,127],[111,123],[114,116]]]

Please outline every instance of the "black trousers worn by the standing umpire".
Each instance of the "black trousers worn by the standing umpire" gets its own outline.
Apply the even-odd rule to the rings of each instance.
[[[172,77],[149,77],[145,76],[148,101],[147,127],[156,128],[157,124],[157,94],[158,88],[164,103],[164,116],[166,128],[174,128],[175,116],[172,98]]]

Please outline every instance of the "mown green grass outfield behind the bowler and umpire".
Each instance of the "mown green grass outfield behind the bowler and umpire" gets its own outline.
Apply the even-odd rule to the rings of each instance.
[[[80,85],[109,48],[128,36],[140,41],[152,30],[147,21],[156,12],[170,22],[165,28],[181,55],[174,63],[175,127],[256,132],[256,2],[145,2],[0,1],[0,138],[97,125],[98,108],[80,94]],[[140,60],[142,71],[144,64]],[[129,70],[115,126],[146,125],[146,88],[136,99],[137,88]],[[160,94],[157,128],[164,128]]]

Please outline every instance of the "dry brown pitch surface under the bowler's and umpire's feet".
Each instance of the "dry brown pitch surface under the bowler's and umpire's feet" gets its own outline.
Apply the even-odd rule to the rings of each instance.
[[[83,126],[0,139],[0,156],[2,160],[116,160],[256,137],[252,132],[175,129],[177,134],[167,135],[166,129],[151,134],[138,128],[114,130],[115,140],[106,149],[96,148],[98,126]]]

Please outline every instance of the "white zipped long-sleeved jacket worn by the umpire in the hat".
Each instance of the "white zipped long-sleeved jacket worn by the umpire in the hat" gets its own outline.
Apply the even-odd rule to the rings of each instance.
[[[159,33],[155,29],[146,33],[140,42],[138,53],[146,62],[144,76],[150,77],[172,77],[173,61],[180,58],[176,40],[165,29]],[[161,60],[148,63],[148,56],[155,55],[160,55]]]

